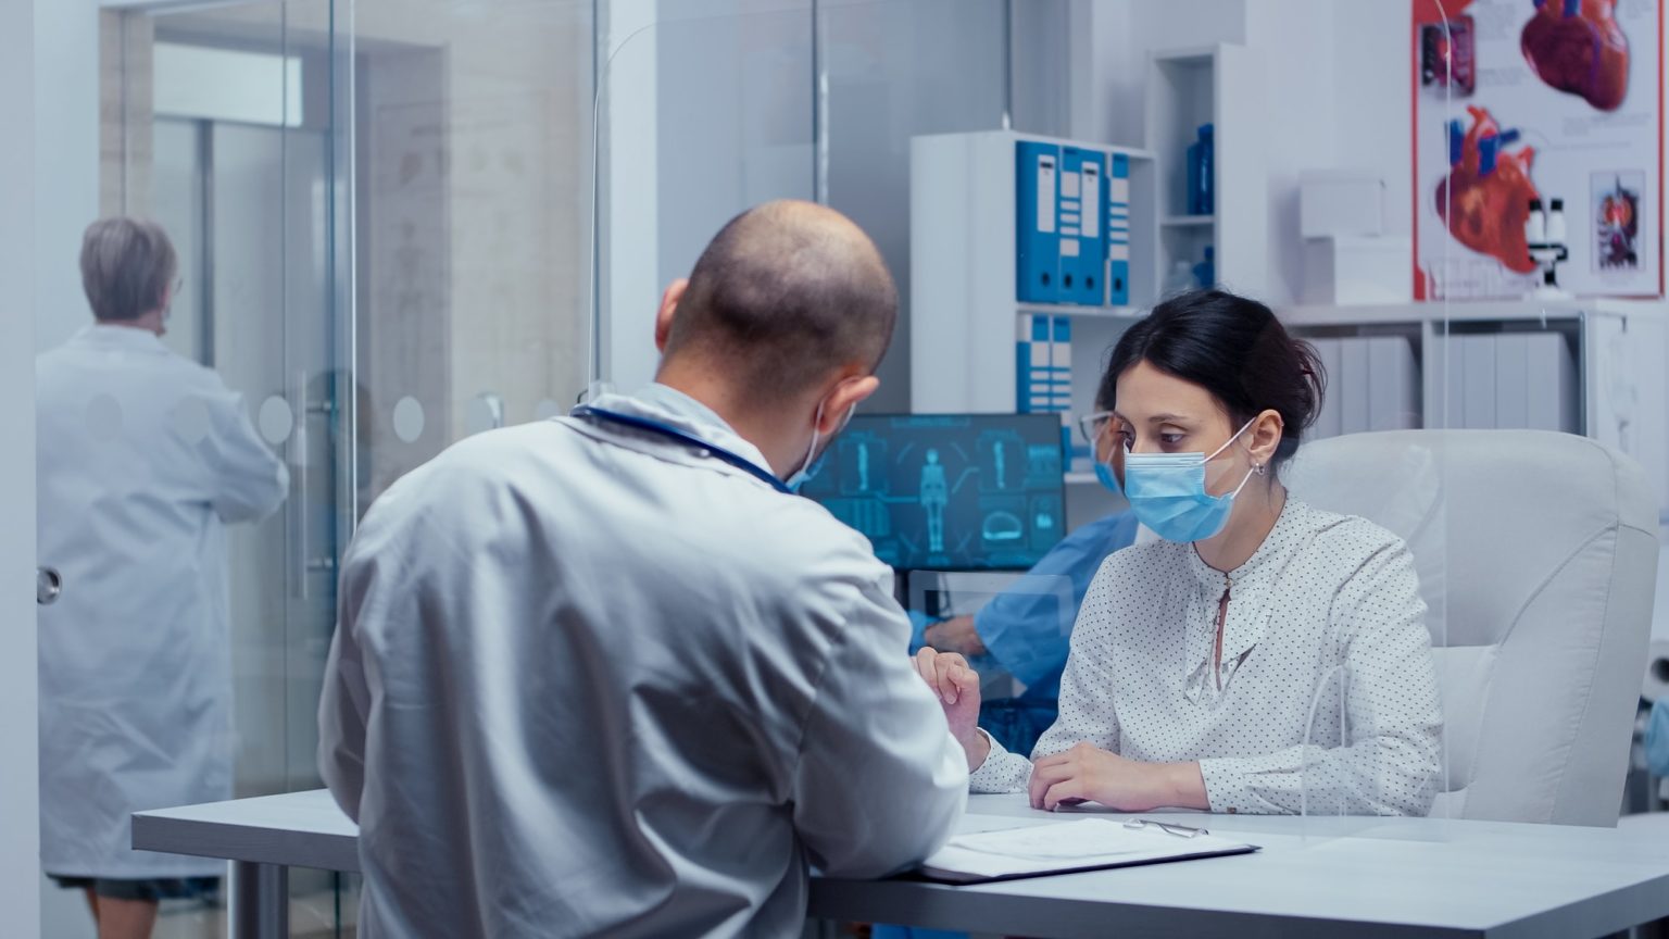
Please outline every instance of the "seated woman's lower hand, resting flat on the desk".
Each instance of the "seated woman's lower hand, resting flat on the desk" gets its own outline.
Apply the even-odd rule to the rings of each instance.
[[[1031,807],[1100,802],[1118,812],[1208,809],[1200,764],[1143,764],[1078,744],[1031,769]]]

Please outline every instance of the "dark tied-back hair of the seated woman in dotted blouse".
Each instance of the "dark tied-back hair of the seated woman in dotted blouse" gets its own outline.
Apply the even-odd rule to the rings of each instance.
[[[1237,428],[1267,409],[1278,411],[1285,431],[1277,464],[1298,451],[1327,393],[1315,348],[1288,336],[1267,306],[1225,291],[1175,296],[1132,326],[1102,374],[1098,408],[1117,408],[1118,376],[1137,363],[1210,391]]]

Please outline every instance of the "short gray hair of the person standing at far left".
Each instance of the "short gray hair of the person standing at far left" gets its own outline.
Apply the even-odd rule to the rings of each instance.
[[[82,289],[93,316],[130,321],[160,309],[179,257],[162,226],[98,219],[82,236]]]

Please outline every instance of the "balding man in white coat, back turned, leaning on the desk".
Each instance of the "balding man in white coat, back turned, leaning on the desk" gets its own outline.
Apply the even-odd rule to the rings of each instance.
[[[784,483],[875,393],[896,312],[856,226],[761,206],[668,289],[654,384],[371,508],[320,708],[362,936],[798,936],[808,865],[950,835],[966,759],[891,575]]]

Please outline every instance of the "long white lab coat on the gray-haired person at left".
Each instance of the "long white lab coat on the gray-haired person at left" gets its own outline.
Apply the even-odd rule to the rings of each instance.
[[[137,852],[129,814],[232,797],[227,521],[289,473],[215,373],[155,334],[90,326],[35,363],[42,867],[70,877],[219,876]]]

